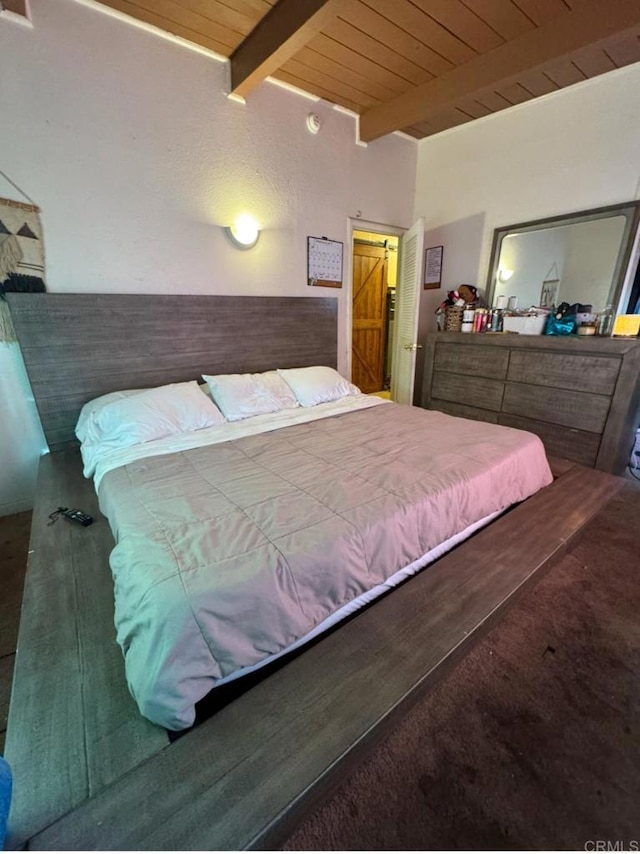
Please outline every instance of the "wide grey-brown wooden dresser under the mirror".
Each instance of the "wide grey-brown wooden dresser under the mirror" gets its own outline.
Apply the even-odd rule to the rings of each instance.
[[[640,421],[640,341],[427,336],[421,405],[536,433],[553,456],[621,474]]]

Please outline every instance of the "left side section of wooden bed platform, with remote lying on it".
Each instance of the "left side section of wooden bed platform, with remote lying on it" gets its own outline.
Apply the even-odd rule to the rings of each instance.
[[[58,507],[79,507],[95,522],[49,525]],[[7,725],[9,845],[22,846],[169,743],[127,689],[113,624],[113,546],[78,450],[43,456]]]

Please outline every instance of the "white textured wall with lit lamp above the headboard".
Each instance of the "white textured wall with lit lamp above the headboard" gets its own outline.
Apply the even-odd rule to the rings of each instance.
[[[0,20],[0,169],[42,209],[49,290],[337,295],[344,369],[343,292],[307,287],[306,237],[346,240],[358,211],[408,227],[415,143],[357,146],[352,117],[270,83],[243,106],[224,63],[74,0],[31,8],[33,29]],[[241,211],[263,228],[250,252],[218,227]],[[0,466],[0,513],[31,499],[25,407],[2,411],[19,450]]]

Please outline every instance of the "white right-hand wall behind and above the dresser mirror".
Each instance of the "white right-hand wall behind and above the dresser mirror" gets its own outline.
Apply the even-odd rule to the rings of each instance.
[[[444,244],[443,288],[484,288],[495,228],[640,195],[640,64],[425,139],[415,215]],[[464,224],[464,227],[461,227]]]

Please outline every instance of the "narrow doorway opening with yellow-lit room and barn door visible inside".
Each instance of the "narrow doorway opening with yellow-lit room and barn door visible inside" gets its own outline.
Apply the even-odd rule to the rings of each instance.
[[[351,379],[365,394],[391,396],[398,273],[395,234],[353,231]]]

